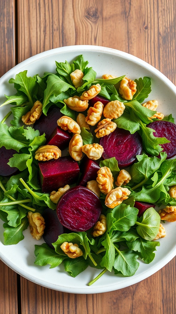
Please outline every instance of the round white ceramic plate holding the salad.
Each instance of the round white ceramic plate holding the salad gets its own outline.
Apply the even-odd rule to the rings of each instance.
[[[148,76],[152,79],[152,92],[148,100],[157,99],[159,102],[158,111],[164,114],[173,114],[176,117],[175,99],[176,87],[157,69],[148,63],[122,51],[99,46],[68,46],[52,49],[33,56],[9,70],[0,78],[0,103],[6,99],[4,94],[13,95],[15,91],[13,84],[8,84],[10,78],[23,70],[28,70],[28,76],[36,73],[43,75],[45,71],[55,73],[55,61],[71,62],[78,55],[83,54],[85,60],[89,61],[89,67],[97,72],[97,77],[102,74],[110,73],[116,76],[126,75],[131,79]],[[9,106],[9,105],[8,105]],[[9,107],[4,106],[0,109],[0,119],[9,111]],[[7,108],[8,107],[8,108]],[[135,284],[157,272],[166,265],[176,255],[176,223],[165,223],[167,236],[160,240],[157,247],[156,257],[150,264],[142,261],[132,277],[114,275],[113,272],[106,272],[92,286],[87,284],[95,278],[101,270],[87,268],[76,278],[72,278],[64,271],[62,266],[49,269],[48,266],[34,265],[34,244],[41,244],[43,240],[34,240],[29,228],[23,232],[24,240],[16,245],[3,245],[3,222],[0,220],[0,258],[26,279],[42,285],[44,287],[70,293],[100,293],[121,289]]]

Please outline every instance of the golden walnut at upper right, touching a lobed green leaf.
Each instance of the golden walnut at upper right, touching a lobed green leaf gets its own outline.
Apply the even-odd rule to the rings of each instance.
[[[119,87],[119,93],[122,98],[131,100],[133,95],[136,93],[136,86],[136,82],[127,77],[123,78]]]

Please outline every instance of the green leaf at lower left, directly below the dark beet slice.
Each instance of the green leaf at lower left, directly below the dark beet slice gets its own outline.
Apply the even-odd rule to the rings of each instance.
[[[57,254],[54,249],[52,249],[48,244],[43,243],[41,245],[35,245],[35,262],[34,264],[45,266],[47,264],[51,265],[50,268],[59,266],[66,256]]]

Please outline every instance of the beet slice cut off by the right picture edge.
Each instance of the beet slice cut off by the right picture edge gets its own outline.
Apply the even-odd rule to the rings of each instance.
[[[168,121],[154,121],[147,125],[155,130],[155,137],[165,137],[170,143],[161,144],[163,152],[167,153],[167,159],[176,155],[176,125]],[[158,156],[159,157],[159,156]]]

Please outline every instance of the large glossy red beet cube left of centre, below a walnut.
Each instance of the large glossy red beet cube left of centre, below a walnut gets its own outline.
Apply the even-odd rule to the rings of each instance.
[[[66,184],[73,184],[78,180],[80,168],[70,156],[56,160],[39,162],[39,179],[42,192],[56,191]]]

